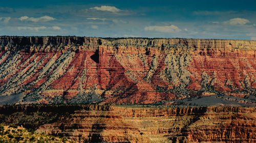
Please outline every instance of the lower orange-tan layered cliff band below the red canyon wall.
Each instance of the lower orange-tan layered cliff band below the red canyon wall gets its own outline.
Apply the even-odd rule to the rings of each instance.
[[[75,141],[255,142],[255,107],[1,106],[0,123]]]

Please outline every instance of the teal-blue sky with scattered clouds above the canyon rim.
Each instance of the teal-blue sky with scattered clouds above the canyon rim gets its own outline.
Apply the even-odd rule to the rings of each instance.
[[[0,35],[256,40],[256,1],[6,1]]]

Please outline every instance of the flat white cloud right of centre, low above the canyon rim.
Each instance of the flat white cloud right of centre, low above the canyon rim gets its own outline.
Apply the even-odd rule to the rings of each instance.
[[[170,26],[147,26],[144,28],[145,31],[156,31],[164,33],[175,33],[181,32],[180,28],[175,25]]]

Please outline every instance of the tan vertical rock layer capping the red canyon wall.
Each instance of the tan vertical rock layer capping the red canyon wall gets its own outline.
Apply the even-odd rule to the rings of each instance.
[[[256,49],[256,41],[250,40],[220,40],[220,39],[146,39],[146,38],[125,38],[125,39],[102,39],[93,37],[0,37],[2,50],[10,50],[19,46],[139,46],[139,47],[161,47],[163,45],[181,44],[196,48],[245,48]],[[36,49],[31,47],[32,50]],[[65,49],[65,47],[61,47]]]

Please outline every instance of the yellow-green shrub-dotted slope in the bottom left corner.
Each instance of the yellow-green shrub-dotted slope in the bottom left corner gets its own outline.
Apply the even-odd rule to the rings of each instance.
[[[58,136],[29,132],[25,128],[16,125],[0,124],[0,143],[8,142],[72,143],[74,141],[70,141],[67,138],[62,138]]]

